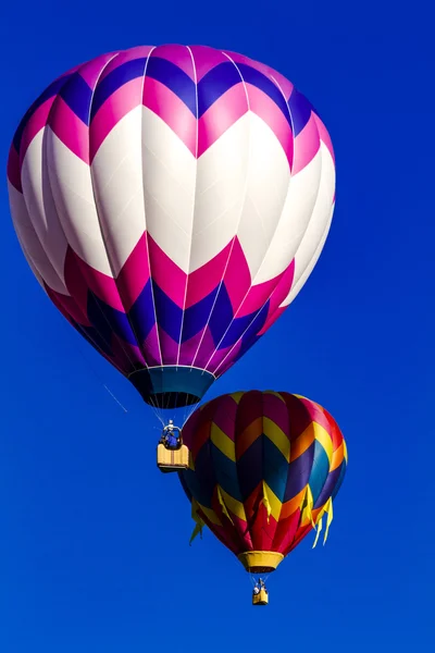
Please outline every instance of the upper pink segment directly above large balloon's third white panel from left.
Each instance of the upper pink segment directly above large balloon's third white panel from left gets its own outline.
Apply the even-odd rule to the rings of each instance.
[[[48,124],[63,145],[89,164],[89,130],[61,96],[55,98]]]

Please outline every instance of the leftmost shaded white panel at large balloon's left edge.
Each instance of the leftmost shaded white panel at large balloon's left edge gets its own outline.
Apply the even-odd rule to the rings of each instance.
[[[26,257],[33,273],[41,285],[44,280],[53,291],[67,295],[69,293],[65,288],[63,280],[59,278],[59,274],[50,263],[45,250],[42,249],[39,238],[30,222],[23,195],[20,193],[20,190],[12,186],[10,182],[8,182],[8,187],[13,225],[24,256]]]

